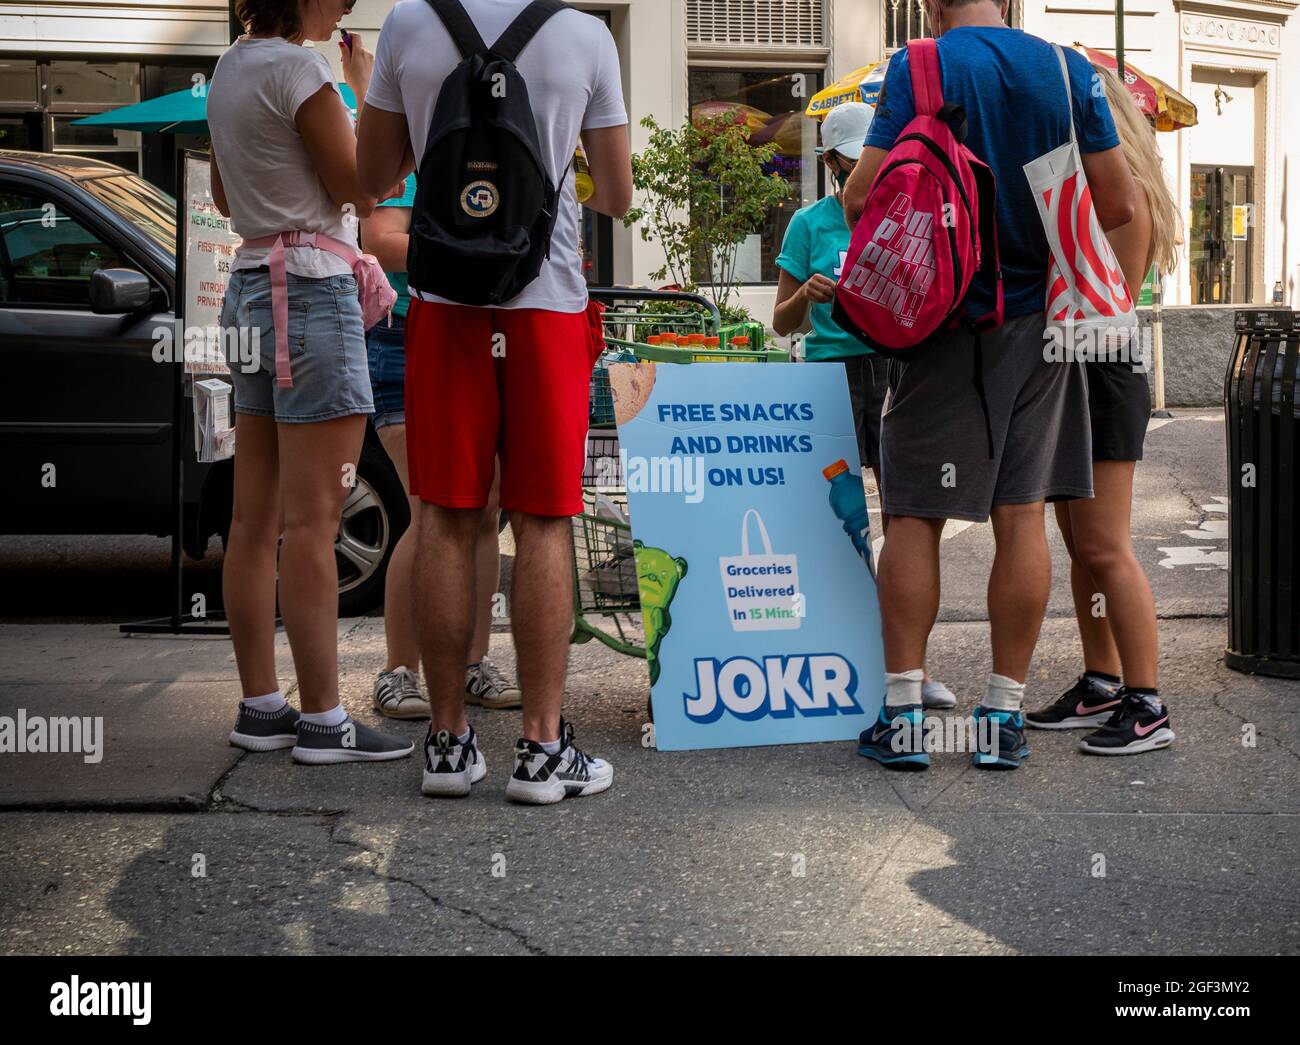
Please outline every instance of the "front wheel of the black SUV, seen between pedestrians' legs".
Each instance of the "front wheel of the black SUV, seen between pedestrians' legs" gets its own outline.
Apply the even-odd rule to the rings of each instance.
[[[410,524],[411,506],[402,480],[382,446],[368,439],[356,465],[356,485],[343,503],[334,543],[341,617],[382,607],[393,548]]]

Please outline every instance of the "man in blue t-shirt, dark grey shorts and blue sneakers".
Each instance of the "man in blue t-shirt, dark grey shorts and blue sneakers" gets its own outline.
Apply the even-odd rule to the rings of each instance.
[[[885,706],[862,734],[859,753],[918,768],[894,734],[920,724],[922,665],[939,612],[939,543],[946,519],[992,516],[997,555],[988,584],[992,673],[975,714],[997,736],[976,766],[1014,768],[1028,754],[1020,703],[1050,590],[1044,502],[1092,497],[1088,393],[1080,363],[1049,361],[1046,238],[1024,164],[1070,138],[1074,121],[1102,229],[1132,218],[1136,187],[1119,149],[1101,83],[1066,51],[1072,112],[1052,45],[1005,25],[996,0],[927,0],[939,36],[944,100],[966,109],[966,144],[997,181],[997,248],[1005,322],[983,335],[975,374],[974,337],[944,333],[890,374],[881,422],[881,507],[890,516],[879,585],[885,647]],[[844,192],[857,222],[881,161],[915,116],[907,52],[889,62],[862,159]],[[983,244],[991,250],[993,244]],[[994,304],[989,281],[971,285],[965,308]],[[980,403],[980,386],[987,400]],[[992,452],[989,443],[992,443]]]

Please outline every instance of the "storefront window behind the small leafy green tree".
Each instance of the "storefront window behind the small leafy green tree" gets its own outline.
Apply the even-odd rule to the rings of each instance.
[[[692,66],[692,118],[740,112],[751,127],[750,142],[775,143],[768,173],[790,185],[790,194],[774,207],[763,227],[741,243],[736,277],[742,283],[775,283],[776,257],[790,216],[820,195],[816,123],[803,116],[809,99],[822,88],[819,69],[725,69]],[[697,272],[696,278],[703,278]]]

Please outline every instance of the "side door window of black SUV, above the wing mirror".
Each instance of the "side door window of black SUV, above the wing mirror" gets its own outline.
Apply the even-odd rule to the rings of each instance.
[[[122,265],[66,207],[0,182],[0,305],[90,308],[91,273]]]

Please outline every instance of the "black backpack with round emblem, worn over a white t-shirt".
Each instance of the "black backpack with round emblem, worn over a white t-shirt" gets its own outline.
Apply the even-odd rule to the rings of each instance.
[[[442,82],[429,123],[411,212],[407,274],[412,287],[439,298],[502,304],[541,272],[559,203],[515,60],[568,5],[533,0],[491,47],[459,0],[429,0],[429,5],[462,61]]]

